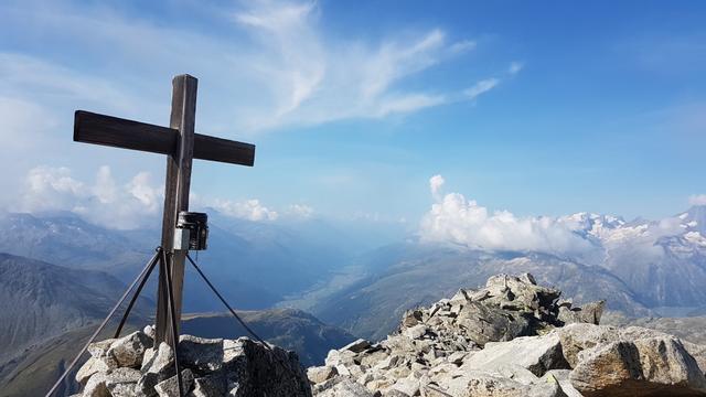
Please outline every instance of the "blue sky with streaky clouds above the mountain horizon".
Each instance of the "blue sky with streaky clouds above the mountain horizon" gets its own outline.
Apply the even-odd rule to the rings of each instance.
[[[704,20],[697,1],[6,1],[0,203],[156,213],[164,160],[71,142],[73,110],[164,125],[190,73],[197,130],[257,144],[254,169],[195,164],[196,205],[416,224],[441,174],[520,216],[671,215],[706,193]]]

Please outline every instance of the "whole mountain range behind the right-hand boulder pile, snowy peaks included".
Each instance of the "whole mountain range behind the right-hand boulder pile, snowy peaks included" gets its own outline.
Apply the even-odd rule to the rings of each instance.
[[[371,339],[394,319],[498,272],[530,271],[579,302],[606,299],[630,316],[703,313],[706,304],[706,206],[659,222],[580,213],[558,218],[588,250],[500,251],[410,238],[368,253],[334,280],[284,305]],[[341,282],[345,280],[345,282]],[[315,299],[308,299],[315,297]]]

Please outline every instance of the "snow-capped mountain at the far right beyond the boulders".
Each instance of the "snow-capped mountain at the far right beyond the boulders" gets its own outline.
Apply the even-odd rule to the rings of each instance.
[[[596,243],[602,260],[591,265],[618,276],[644,304],[696,307],[706,302],[706,206],[660,221],[575,214],[563,222]]]

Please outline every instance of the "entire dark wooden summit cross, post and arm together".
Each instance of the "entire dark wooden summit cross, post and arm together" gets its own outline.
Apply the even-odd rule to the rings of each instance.
[[[162,248],[165,267],[160,266],[157,294],[156,342],[172,345],[165,277],[170,277],[174,296],[176,326],[181,320],[185,250],[174,250],[174,228],[179,212],[189,211],[192,159],[212,160],[253,167],[255,146],[194,133],[197,79],[180,75],[172,79],[172,112],[169,128],[76,110],[74,141],[167,154]],[[168,269],[171,269],[171,275]],[[162,275],[161,272],[165,272]],[[179,329],[176,329],[179,332]]]

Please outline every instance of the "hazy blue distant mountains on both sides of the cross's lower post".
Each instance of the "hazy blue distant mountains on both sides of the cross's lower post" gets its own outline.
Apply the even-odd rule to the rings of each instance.
[[[215,211],[208,215],[208,249],[192,255],[240,309],[269,308],[311,288],[371,244],[315,219],[274,224],[234,219]],[[65,212],[0,213],[0,253],[105,271],[125,283],[139,273],[160,242],[158,229],[110,229]],[[154,286],[146,296],[154,296]],[[195,272],[186,277],[184,288],[185,311],[221,310]]]

